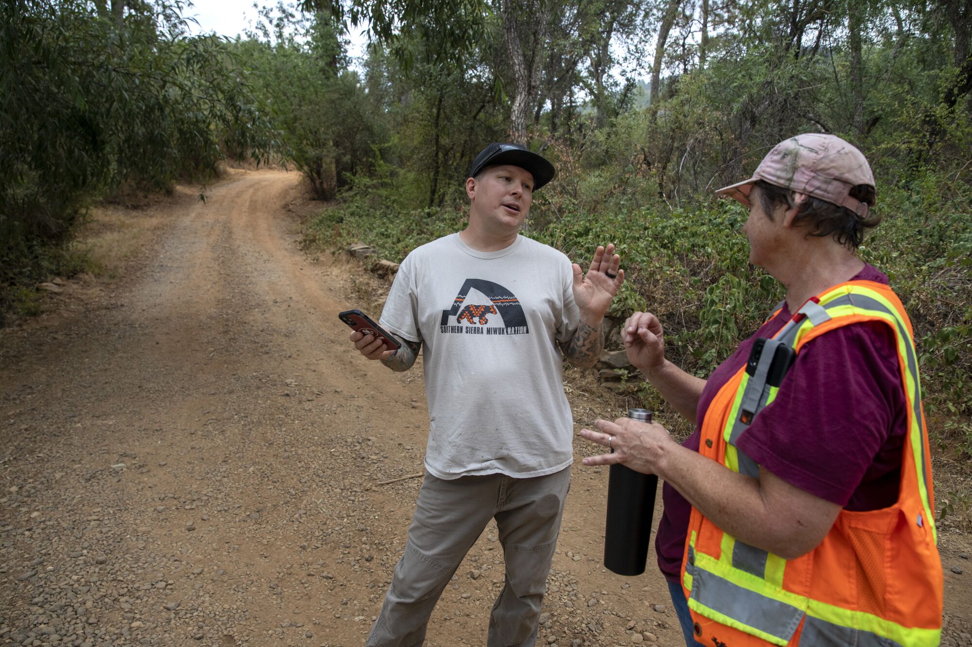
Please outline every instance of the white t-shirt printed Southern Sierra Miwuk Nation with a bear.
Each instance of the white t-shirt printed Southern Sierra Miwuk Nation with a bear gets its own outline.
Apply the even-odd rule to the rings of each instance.
[[[579,318],[571,261],[523,236],[477,252],[455,233],[401,262],[380,323],[425,347],[434,476],[526,478],[571,464],[556,342],[571,339]]]

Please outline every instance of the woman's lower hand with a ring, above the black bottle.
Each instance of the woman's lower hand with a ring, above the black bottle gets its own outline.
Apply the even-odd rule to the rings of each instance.
[[[658,423],[618,418],[613,423],[596,420],[594,426],[600,431],[581,429],[580,435],[614,452],[584,459],[581,462],[585,465],[612,465],[619,462],[642,474],[661,475],[668,451],[677,447],[668,429]]]

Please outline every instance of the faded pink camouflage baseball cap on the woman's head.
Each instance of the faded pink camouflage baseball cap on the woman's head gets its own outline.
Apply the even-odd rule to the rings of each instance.
[[[780,142],[763,157],[751,178],[715,192],[748,207],[749,190],[759,180],[847,207],[863,219],[867,219],[870,207],[851,197],[851,188],[875,187],[874,173],[863,153],[840,137],[820,133]]]

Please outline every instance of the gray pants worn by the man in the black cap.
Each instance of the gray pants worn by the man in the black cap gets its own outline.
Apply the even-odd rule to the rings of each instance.
[[[570,484],[570,467],[527,479],[490,474],[443,481],[427,471],[405,552],[367,647],[425,641],[435,602],[494,517],[506,581],[493,604],[486,644],[531,647]]]

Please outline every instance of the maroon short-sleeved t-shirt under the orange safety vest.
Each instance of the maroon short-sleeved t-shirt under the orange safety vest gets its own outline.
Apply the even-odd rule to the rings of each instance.
[[[853,281],[887,285],[865,265]],[[699,429],[715,393],[743,366],[758,337],[772,337],[790,319],[786,305],[771,322],[719,364],[702,391],[695,432],[682,443],[699,451]],[[783,378],[776,399],[740,435],[737,446],[776,476],[848,510],[877,510],[898,496],[907,433],[894,333],[885,323],[851,323],[807,342]],[[658,524],[658,566],[677,583],[691,504],[668,483]]]

